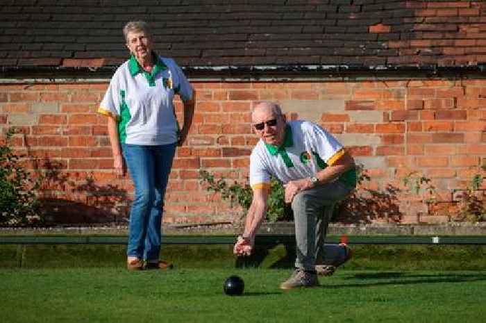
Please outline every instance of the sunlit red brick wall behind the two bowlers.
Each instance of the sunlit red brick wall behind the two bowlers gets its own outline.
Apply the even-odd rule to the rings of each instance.
[[[249,110],[258,100],[280,101],[290,118],[311,119],[334,133],[367,169],[367,188],[401,188],[394,203],[404,222],[415,222],[417,212],[427,210],[423,197],[403,188],[410,172],[432,179],[441,200],[466,187],[474,174],[485,175],[480,169],[486,164],[485,80],[192,83],[196,113],[174,161],[166,222],[234,219],[236,210],[201,188],[199,169],[246,179],[256,140]],[[133,189],[128,178],[111,170],[106,118],[96,113],[106,87],[0,85],[0,128],[22,131],[12,144],[31,156],[28,167],[47,175],[43,192],[49,207],[68,210],[65,216],[74,222],[126,213]]]

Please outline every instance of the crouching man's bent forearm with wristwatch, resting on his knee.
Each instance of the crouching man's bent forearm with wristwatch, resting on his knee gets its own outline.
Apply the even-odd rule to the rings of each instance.
[[[297,181],[290,181],[285,185],[285,202],[290,203],[294,196],[301,190],[308,190],[314,188],[316,185],[328,183],[333,181],[337,176],[340,176],[347,170],[354,167],[354,159],[347,151],[328,167],[321,169],[315,174],[317,183],[313,183],[310,178],[299,179]]]

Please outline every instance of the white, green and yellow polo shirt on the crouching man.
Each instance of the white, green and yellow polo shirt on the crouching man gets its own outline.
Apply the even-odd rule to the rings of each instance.
[[[271,176],[284,184],[315,176],[343,154],[342,144],[317,124],[301,120],[287,122],[285,139],[280,147],[260,140],[251,151],[251,188],[270,188]],[[354,187],[355,169],[344,172],[340,181]]]

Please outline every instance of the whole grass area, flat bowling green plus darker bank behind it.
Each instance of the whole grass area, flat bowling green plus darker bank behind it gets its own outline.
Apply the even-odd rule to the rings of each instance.
[[[231,244],[163,245],[175,270],[128,272],[124,243],[4,243],[1,322],[484,322],[485,245],[352,248],[319,288],[285,292],[292,245],[259,245],[244,261]],[[242,296],[224,294],[232,275]]]

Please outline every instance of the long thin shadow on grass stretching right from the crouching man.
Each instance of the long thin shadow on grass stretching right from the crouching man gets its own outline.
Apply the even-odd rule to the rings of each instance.
[[[486,281],[486,274],[408,274],[406,272],[374,272],[360,273],[346,276],[345,279],[362,279],[363,283],[351,284],[326,284],[321,288],[349,288],[349,287],[371,287],[383,285],[413,285],[423,283],[467,283],[469,281]],[[371,281],[367,281],[367,280]],[[376,281],[376,279],[387,279],[387,281]]]

